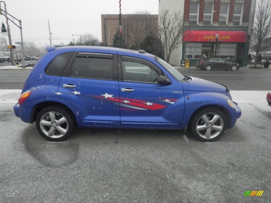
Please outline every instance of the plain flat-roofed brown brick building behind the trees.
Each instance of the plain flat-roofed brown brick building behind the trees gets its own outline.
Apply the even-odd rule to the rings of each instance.
[[[141,15],[142,21],[145,23],[146,30],[145,35],[148,34],[148,27],[150,25],[158,24],[158,15]],[[122,37],[125,38],[126,44],[130,47],[131,40],[129,38],[129,23],[131,23],[131,19],[134,19],[133,14],[122,14],[121,15],[121,25],[122,25]],[[102,22],[102,43],[109,45],[113,44],[113,38],[117,29],[119,29],[119,14],[101,14],[101,22]],[[109,31],[110,30],[110,31]],[[110,32],[110,36],[109,36]]]

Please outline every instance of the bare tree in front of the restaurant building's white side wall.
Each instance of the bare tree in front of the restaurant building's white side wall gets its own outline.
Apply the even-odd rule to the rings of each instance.
[[[169,10],[162,12],[158,23],[158,35],[164,46],[167,62],[172,51],[181,45],[184,31],[183,16],[180,12],[170,13]]]

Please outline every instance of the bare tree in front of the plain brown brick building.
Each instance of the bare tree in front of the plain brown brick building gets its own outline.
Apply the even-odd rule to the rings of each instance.
[[[140,49],[140,44],[152,29],[150,12],[137,11],[128,19],[128,37],[135,49]]]

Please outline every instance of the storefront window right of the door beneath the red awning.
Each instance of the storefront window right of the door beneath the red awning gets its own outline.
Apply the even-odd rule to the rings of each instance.
[[[219,58],[236,58],[236,43],[217,43],[217,56]]]

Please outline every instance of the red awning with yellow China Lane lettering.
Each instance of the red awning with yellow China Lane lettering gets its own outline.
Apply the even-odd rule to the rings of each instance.
[[[247,33],[245,31],[208,31],[208,30],[188,30],[183,34],[184,42],[215,42],[215,35],[218,33],[218,42],[246,42]]]

